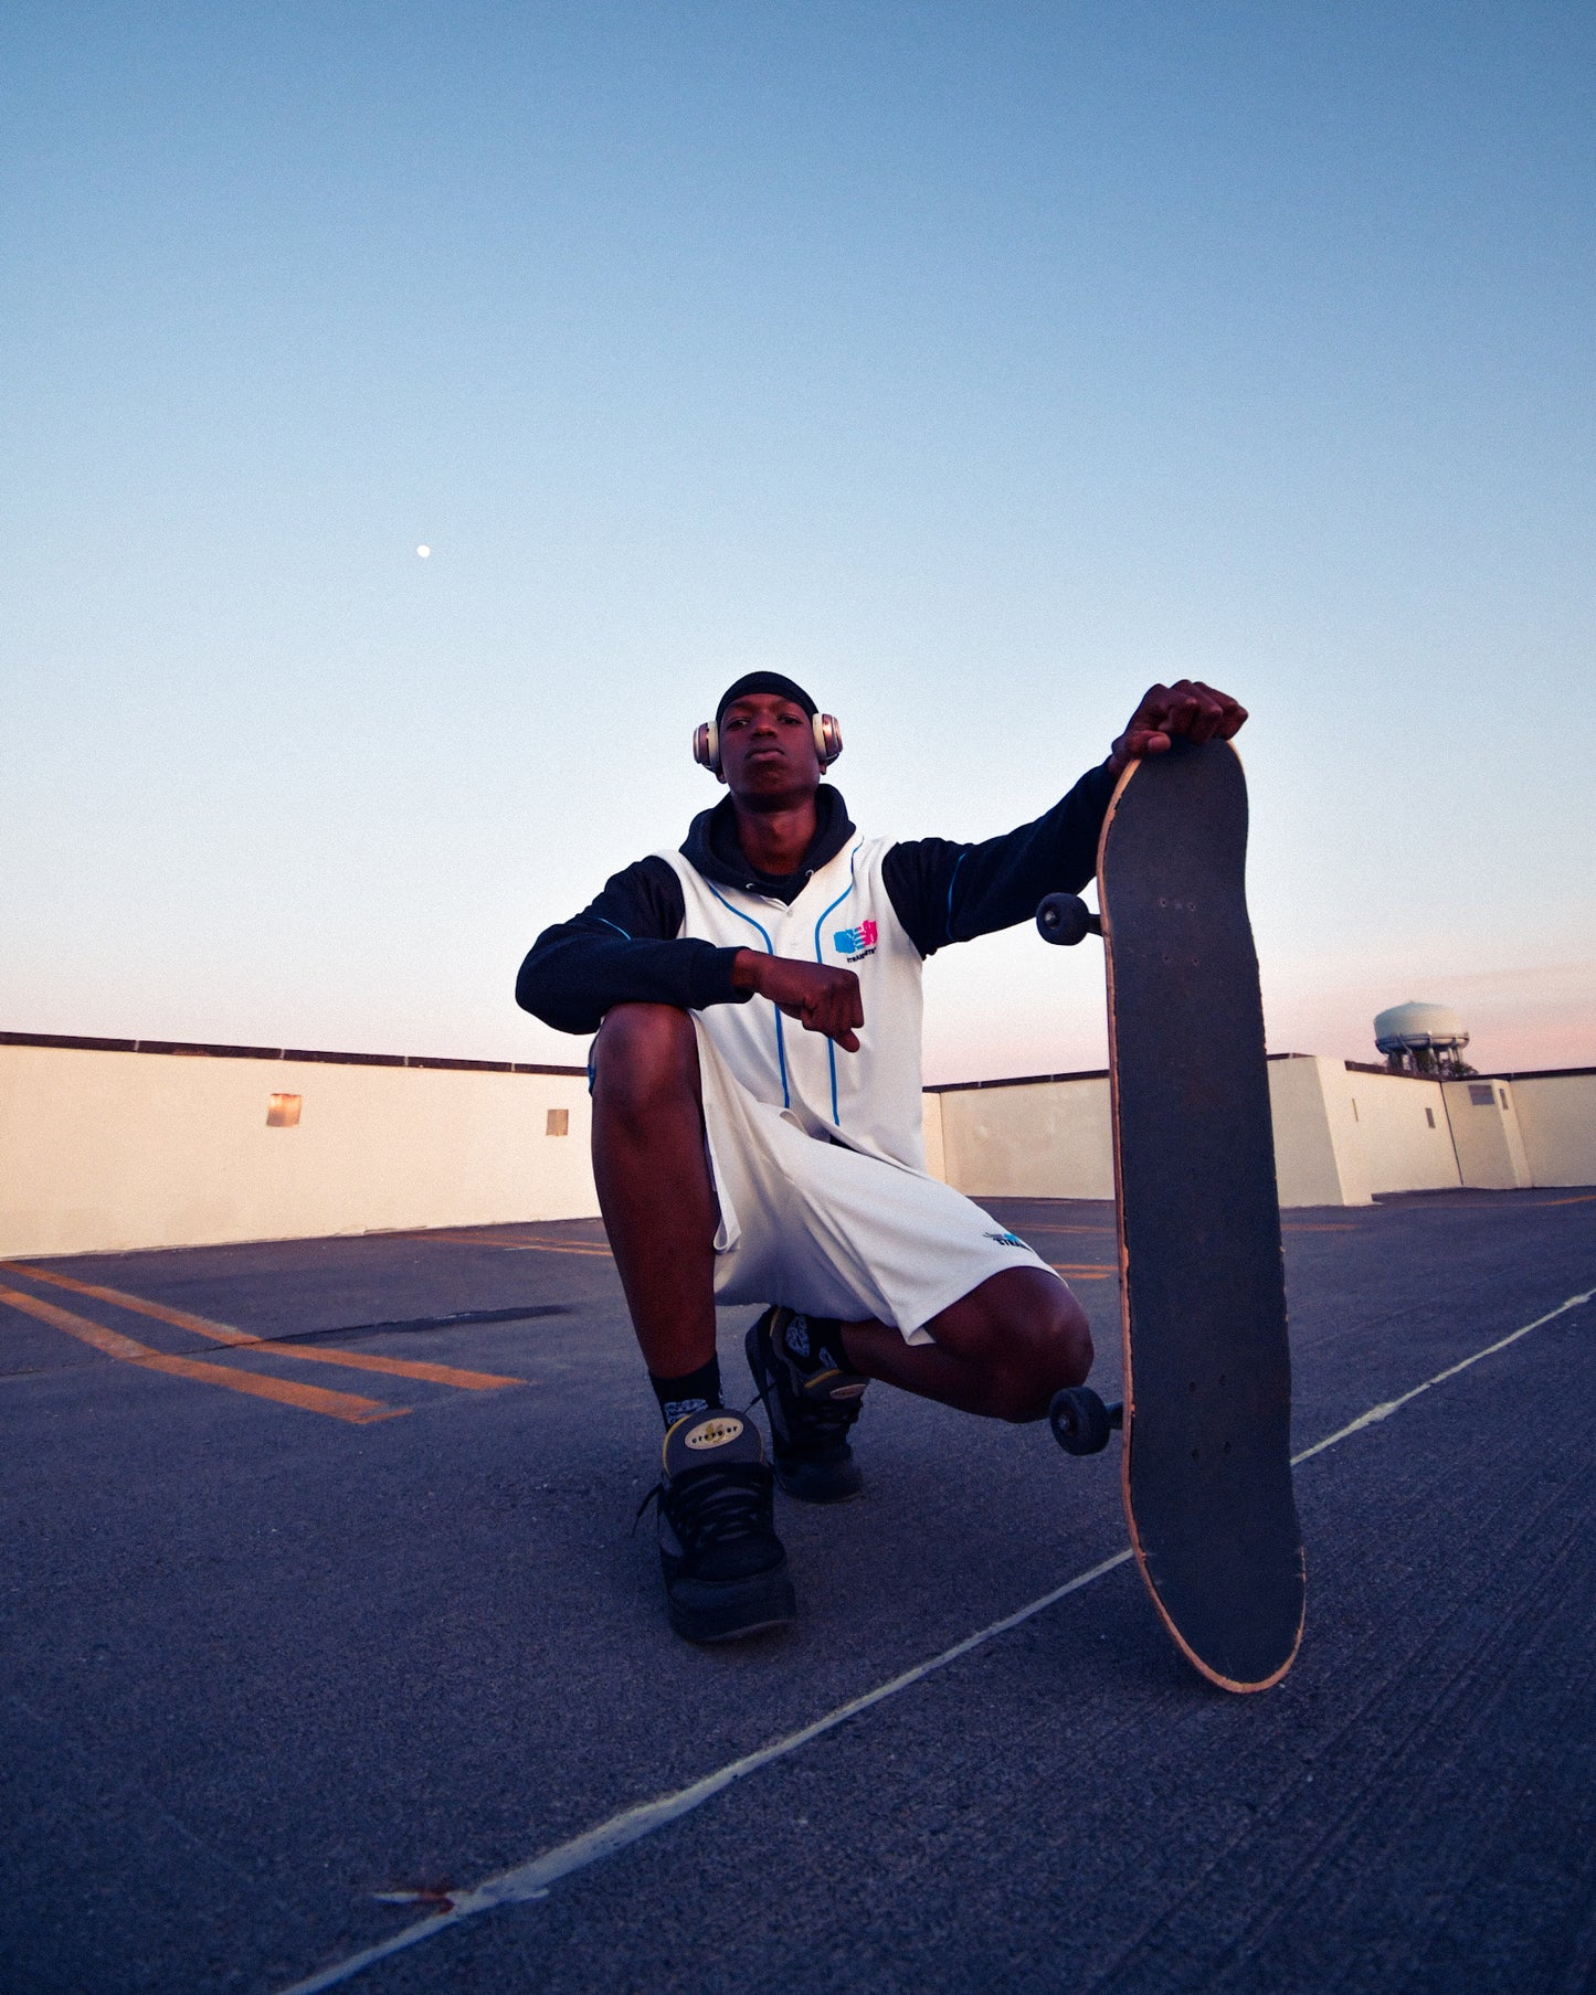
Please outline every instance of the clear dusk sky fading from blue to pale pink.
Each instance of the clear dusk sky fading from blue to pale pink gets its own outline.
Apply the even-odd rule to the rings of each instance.
[[[1195,674],[1273,1049],[1596,1063],[1594,148],[1588,4],[12,4],[0,1025],[575,1061],[734,674],[958,838]]]

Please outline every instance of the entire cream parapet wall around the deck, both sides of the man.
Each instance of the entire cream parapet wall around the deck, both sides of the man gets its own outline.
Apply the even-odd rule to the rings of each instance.
[[[271,1127],[273,1097],[297,1121]],[[1269,1101],[1287,1207],[1596,1185],[1592,1071],[1440,1083],[1293,1053]],[[928,1089],[924,1129],[972,1197],[1113,1197],[1105,1073]],[[0,1041],[0,1255],[593,1217],[589,1141],[583,1069]]]

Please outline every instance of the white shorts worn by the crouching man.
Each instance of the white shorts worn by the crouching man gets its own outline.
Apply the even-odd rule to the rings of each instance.
[[[990,1275],[1053,1273],[952,1185],[812,1137],[788,1109],[756,1101],[694,1025],[720,1201],[716,1303],[784,1303],[844,1323],[874,1317],[906,1343],[930,1345],[932,1317]]]

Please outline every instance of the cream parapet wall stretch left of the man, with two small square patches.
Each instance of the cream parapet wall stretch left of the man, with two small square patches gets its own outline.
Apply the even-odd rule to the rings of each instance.
[[[581,1071],[0,1045],[0,1255],[598,1211]]]

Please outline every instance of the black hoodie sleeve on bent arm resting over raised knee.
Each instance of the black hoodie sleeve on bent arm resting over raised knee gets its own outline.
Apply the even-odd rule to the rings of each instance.
[[[612,874],[581,914],[545,928],[515,980],[515,1001],[555,1031],[597,1031],[610,1005],[702,1011],[742,1003],[736,950],[680,938],[682,882],[660,858]]]

